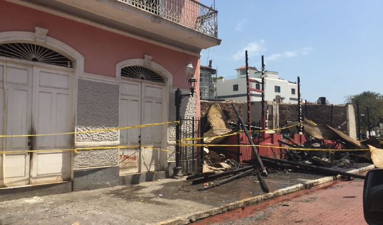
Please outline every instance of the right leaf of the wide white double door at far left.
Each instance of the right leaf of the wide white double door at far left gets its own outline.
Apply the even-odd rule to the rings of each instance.
[[[70,132],[73,127],[73,72],[35,67],[33,128],[35,133]],[[40,136],[33,141],[34,149],[70,149],[71,136]],[[70,179],[71,151],[34,152],[32,184],[53,183]]]

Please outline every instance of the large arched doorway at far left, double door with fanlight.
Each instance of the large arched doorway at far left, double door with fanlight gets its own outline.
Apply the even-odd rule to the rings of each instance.
[[[7,32],[5,32],[7,33]],[[5,135],[74,130],[74,61],[31,41],[33,33],[0,33],[0,132]],[[19,34],[18,36],[15,34]],[[10,39],[10,38],[8,38]],[[2,138],[0,186],[69,181],[73,138],[68,135]],[[26,150],[42,150],[25,152]]]

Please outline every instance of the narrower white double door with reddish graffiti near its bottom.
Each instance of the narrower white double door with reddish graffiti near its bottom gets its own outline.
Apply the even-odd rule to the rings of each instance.
[[[123,80],[121,83],[119,126],[132,126],[163,122],[164,85],[153,82]],[[157,171],[163,152],[147,148],[162,148],[163,126],[149,126],[120,130],[120,143],[140,145],[119,150],[120,174]]]

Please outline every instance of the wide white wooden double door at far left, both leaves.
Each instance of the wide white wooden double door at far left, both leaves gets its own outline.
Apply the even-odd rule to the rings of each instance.
[[[6,67],[6,70],[4,70]],[[6,97],[4,98],[4,71]],[[68,132],[73,128],[70,69],[0,62],[0,132],[34,134]],[[4,103],[6,99],[6,104]],[[4,112],[6,113],[4,115]],[[3,116],[6,119],[3,123]],[[3,132],[5,130],[6,132]],[[69,135],[0,138],[0,186],[53,183],[70,179],[71,151],[25,153],[22,150],[68,149]],[[31,146],[31,148],[30,148]],[[4,170],[3,170],[4,169]],[[3,179],[3,173],[5,179]]]

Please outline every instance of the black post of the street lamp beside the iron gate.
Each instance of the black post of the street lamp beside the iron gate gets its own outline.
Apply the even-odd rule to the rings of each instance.
[[[181,167],[181,152],[180,152],[180,107],[181,107],[181,91],[180,88],[177,88],[176,91],[176,121],[179,121],[176,125],[176,167],[173,168],[173,176],[175,178],[182,176],[182,167]]]

